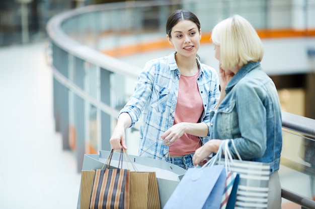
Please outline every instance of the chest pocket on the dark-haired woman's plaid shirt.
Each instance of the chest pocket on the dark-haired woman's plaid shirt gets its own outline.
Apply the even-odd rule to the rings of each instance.
[[[157,112],[164,112],[166,109],[169,93],[170,93],[170,89],[164,86],[155,84],[154,90],[152,93],[151,107],[155,109]]]

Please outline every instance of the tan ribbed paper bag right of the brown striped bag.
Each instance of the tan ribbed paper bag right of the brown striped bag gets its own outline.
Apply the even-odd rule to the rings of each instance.
[[[155,172],[130,172],[130,209],[160,209]]]

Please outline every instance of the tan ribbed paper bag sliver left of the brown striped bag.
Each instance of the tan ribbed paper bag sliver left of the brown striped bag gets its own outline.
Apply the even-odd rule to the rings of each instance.
[[[89,209],[95,170],[81,171],[81,209]]]

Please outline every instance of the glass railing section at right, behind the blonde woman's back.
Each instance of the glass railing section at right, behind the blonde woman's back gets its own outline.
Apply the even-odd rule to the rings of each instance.
[[[282,127],[279,169],[282,197],[285,197],[282,205],[290,204],[292,208],[289,199],[303,208],[315,208],[315,202],[311,201],[315,197],[315,120],[282,112]]]

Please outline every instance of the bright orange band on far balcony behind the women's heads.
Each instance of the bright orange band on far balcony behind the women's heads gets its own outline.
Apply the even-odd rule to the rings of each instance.
[[[257,30],[257,33],[261,39],[278,39],[278,38],[297,38],[297,37],[314,37],[315,29],[308,30],[293,30],[293,29],[278,29],[278,30]],[[209,44],[211,33],[202,33],[200,40],[201,44]],[[161,39],[154,42],[137,43],[136,45],[117,47],[110,50],[101,50],[104,54],[112,57],[128,56],[137,53],[143,53],[154,50],[162,50],[167,48],[173,48],[169,44],[167,39]]]

